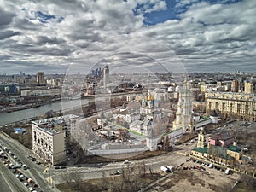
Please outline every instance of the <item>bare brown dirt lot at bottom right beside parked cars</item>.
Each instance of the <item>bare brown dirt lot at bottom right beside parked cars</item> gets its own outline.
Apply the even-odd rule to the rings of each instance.
[[[228,192],[231,191],[240,178],[240,175],[232,172],[226,175],[224,171],[218,171],[214,168],[203,166],[206,172],[198,169],[183,170],[183,167],[201,166],[197,163],[187,162],[179,168],[171,177],[162,183],[154,186],[150,192]],[[207,174],[208,172],[208,174]]]

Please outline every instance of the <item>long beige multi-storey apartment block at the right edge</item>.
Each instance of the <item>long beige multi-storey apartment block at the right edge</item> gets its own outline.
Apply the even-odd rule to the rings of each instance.
[[[205,95],[207,113],[217,110],[223,117],[256,121],[256,96],[247,93],[208,92]]]

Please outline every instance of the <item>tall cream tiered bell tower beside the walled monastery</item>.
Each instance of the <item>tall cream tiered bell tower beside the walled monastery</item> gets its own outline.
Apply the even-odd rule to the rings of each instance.
[[[183,128],[183,131],[193,131],[192,99],[189,82],[185,78],[183,89],[179,90],[176,119],[172,123],[173,130]]]

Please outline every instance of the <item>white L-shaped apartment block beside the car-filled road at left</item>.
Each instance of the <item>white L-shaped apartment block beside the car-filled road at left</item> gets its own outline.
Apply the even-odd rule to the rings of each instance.
[[[78,116],[32,121],[32,152],[51,165],[66,161],[66,132],[75,130]]]

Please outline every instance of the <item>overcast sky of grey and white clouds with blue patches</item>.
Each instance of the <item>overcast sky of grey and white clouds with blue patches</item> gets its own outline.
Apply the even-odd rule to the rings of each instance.
[[[0,0],[0,73],[256,72],[255,0]],[[72,69],[72,70],[71,70]]]

